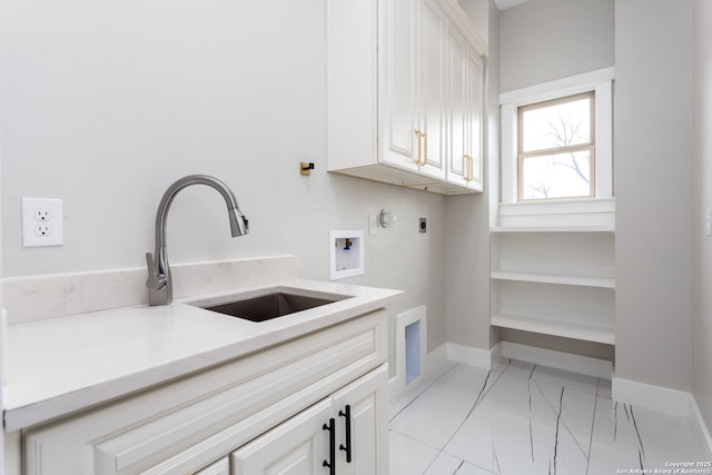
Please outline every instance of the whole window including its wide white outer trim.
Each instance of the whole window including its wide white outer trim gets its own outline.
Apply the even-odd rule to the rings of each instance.
[[[606,68],[500,96],[501,204],[613,197],[613,77]]]

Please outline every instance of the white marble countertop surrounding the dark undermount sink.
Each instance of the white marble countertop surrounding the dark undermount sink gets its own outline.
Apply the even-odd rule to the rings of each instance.
[[[186,301],[281,286],[349,298],[263,323]],[[287,280],[8,326],[6,431],[51,420],[384,307],[400,290]]]

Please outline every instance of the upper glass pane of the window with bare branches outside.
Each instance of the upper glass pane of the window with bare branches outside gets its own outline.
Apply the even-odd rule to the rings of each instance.
[[[591,142],[591,96],[522,113],[522,151]]]

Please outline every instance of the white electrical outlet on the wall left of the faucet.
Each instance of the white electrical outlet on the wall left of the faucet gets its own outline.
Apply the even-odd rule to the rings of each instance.
[[[62,220],[61,199],[22,198],[22,246],[61,246]]]

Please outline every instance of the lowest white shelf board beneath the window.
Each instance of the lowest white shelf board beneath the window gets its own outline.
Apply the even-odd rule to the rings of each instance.
[[[511,314],[494,315],[492,316],[491,323],[496,327],[615,345],[615,329],[607,326],[586,325]]]

